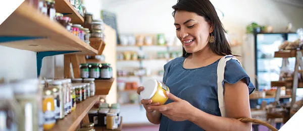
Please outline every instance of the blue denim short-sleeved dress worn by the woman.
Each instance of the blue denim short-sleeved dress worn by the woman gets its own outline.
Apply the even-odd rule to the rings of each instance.
[[[196,69],[183,68],[185,57],[177,57],[164,65],[163,82],[175,96],[188,101],[194,107],[216,116],[221,116],[217,95],[217,65],[220,59],[206,67]],[[234,84],[244,79],[251,94],[255,86],[235,59],[226,62],[224,80]],[[223,87],[224,88],[224,87]],[[172,102],[168,99],[166,104]],[[162,115],[160,131],[204,130],[191,121],[173,121]]]

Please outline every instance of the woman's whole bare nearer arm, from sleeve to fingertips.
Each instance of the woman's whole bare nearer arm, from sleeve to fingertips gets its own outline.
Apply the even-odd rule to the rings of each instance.
[[[219,117],[208,114],[192,106],[189,102],[182,100],[171,93],[167,96],[173,100],[166,105],[149,106],[148,109],[157,110],[162,115],[174,121],[189,120],[205,130],[240,130],[249,131],[251,123],[243,123],[237,118],[250,118],[248,87],[241,80],[235,84],[224,84],[225,110],[227,117]]]

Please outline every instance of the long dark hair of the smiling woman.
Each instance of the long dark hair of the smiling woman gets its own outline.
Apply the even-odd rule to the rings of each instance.
[[[226,31],[217,15],[216,9],[209,0],[178,0],[177,4],[172,7],[175,11],[173,12],[173,17],[178,10],[183,10],[187,12],[194,12],[199,16],[204,17],[204,19],[211,23],[214,27],[212,32],[215,37],[214,43],[209,43],[211,50],[218,55],[230,55],[231,49],[225,37]],[[183,49],[183,57],[187,57],[190,53],[187,53]]]

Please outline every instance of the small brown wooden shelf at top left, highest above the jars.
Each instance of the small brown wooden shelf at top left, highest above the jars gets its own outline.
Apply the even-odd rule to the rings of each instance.
[[[69,15],[65,15],[72,19],[71,23],[83,25],[84,18],[75,10],[68,0],[56,0],[55,9],[56,12],[59,13],[71,13]]]

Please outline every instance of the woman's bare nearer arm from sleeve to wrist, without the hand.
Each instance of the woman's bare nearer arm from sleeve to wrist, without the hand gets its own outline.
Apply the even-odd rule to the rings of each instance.
[[[243,123],[237,118],[250,118],[248,87],[243,80],[235,84],[224,84],[226,117],[205,113],[195,107],[189,119],[205,130],[250,130],[251,123]]]

